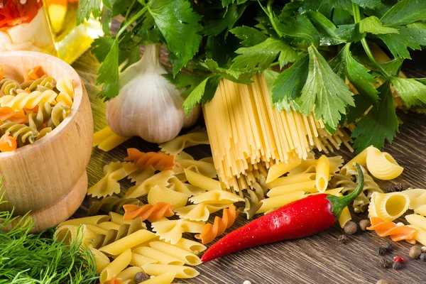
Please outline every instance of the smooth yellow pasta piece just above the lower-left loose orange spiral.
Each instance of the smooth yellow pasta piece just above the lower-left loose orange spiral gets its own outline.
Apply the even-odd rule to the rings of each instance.
[[[175,192],[168,187],[155,185],[148,192],[148,203],[155,205],[158,202],[167,202],[172,204],[174,208],[180,208],[187,204],[188,197],[185,193]]]

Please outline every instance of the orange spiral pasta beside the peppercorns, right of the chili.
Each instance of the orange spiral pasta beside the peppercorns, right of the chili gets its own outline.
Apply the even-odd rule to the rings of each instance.
[[[376,231],[379,236],[391,236],[392,241],[408,241],[410,244],[415,244],[414,235],[416,229],[410,228],[409,226],[398,226],[397,224],[390,221],[383,221],[378,217],[370,218],[371,226],[367,229],[370,231]]]

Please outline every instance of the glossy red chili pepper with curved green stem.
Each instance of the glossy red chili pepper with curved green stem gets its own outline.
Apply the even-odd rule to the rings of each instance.
[[[344,207],[351,204],[363,190],[364,175],[358,164],[356,169],[359,174],[358,186],[349,195],[311,195],[286,204],[224,236],[204,253],[202,262],[253,246],[303,238],[333,226]]]

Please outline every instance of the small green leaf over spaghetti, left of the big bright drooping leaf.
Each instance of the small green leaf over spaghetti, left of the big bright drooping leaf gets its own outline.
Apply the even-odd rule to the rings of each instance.
[[[295,64],[280,73],[273,82],[271,92],[273,104],[279,104],[280,108],[286,111],[289,111],[292,106],[298,109],[297,103],[294,100],[300,97],[300,93],[306,82],[308,69],[309,55],[305,55],[295,62]]]

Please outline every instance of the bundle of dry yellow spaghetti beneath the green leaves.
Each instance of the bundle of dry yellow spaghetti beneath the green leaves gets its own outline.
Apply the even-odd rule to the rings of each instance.
[[[351,138],[339,129],[334,136],[314,114],[278,111],[271,104],[268,84],[255,75],[253,84],[219,83],[211,102],[204,105],[204,119],[214,165],[226,187],[239,191],[249,187],[276,163],[306,159],[317,148],[329,153]]]

